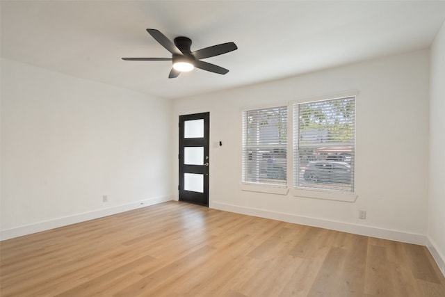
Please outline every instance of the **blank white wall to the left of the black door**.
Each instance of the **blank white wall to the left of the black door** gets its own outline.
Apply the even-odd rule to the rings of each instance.
[[[2,59],[2,238],[170,200],[171,112],[166,99]]]

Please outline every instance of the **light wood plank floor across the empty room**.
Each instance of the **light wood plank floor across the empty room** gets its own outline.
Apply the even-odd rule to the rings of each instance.
[[[166,202],[2,241],[0,296],[445,296],[428,250]]]

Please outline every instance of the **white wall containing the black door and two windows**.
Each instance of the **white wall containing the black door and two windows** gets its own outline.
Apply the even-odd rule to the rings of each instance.
[[[211,145],[210,207],[424,243],[428,212],[429,58],[428,50],[415,51],[176,100],[175,122],[180,114],[210,111],[211,143],[223,142],[222,147]],[[348,90],[359,91],[356,202],[241,191],[243,106]],[[177,128],[174,131],[177,135]],[[177,149],[173,155],[176,154]],[[174,172],[177,180],[177,164]],[[358,219],[359,209],[367,211],[366,220]]]

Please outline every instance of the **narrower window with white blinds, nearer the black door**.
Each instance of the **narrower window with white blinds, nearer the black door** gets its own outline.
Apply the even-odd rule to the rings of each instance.
[[[287,106],[243,112],[243,182],[287,185]]]

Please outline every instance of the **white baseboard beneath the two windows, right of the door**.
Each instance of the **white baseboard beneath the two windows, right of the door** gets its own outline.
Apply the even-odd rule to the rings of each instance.
[[[378,227],[369,227],[352,223],[323,220],[321,218],[297,216],[295,214],[285,214],[275,211],[267,211],[264,209],[252,209],[250,207],[240,207],[237,205],[225,204],[220,202],[212,202],[210,207],[213,209],[230,211],[237,214],[247,214],[249,216],[259,216],[261,218],[282,220],[284,222],[289,222],[289,223],[296,223],[300,225],[308,225],[313,227],[321,227],[329,230],[336,230],[341,232],[377,237],[380,239],[389,239],[405,243],[414,243],[414,244],[419,244],[421,246],[425,246],[426,244],[426,236],[421,234],[401,232],[398,230],[387,230]]]

